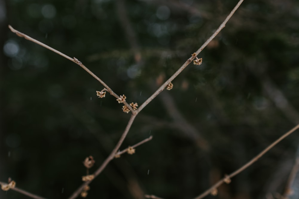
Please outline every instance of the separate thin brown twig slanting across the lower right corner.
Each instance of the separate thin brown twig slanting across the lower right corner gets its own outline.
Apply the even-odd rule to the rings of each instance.
[[[207,189],[205,192],[203,192],[201,195],[197,196],[194,199],[201,199],[210,194],[213,190],[217,189],[220,185],[222,185],[227,179],[230,179],[234,177],[235,175],[239,174],[243,170],[245,170],[248,166],[256,162],[260,157],[262,157],[266,152],[268,152],[270,149],[272,149],[276,144],[278,144],[280,141],[282,141],[284,138],[286,138],[288,135],[290,135],[292,132],[297,130],[299,128],[299,124],[286,132],[284,135],[282,135],[280,138],[278,138],[276,141],[274,141],[272,144],[270,144],[266,149],[264,149],[262,152],[260,152],[257,156],[252,158],[249,162],[247,162],[245,165],[237,169],[236,171],[232,172],[230,175],[226,176],[225,178],[222,178],[217,183],[215,183],[213,186],[211,186],[209,189]]]

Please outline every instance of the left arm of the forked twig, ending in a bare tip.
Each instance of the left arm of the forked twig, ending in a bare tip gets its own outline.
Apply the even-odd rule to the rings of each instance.
[[[58,50],[56,50],[56,49],[40,42],[40,41],[37,41],[36,39],[33,39],[32,37],[29,37],[28,35],[26,35],[24,33],[21,33],[18,30],[14,29],[13,27],[11,27],[11,25],[8,25],[8,27],[11,30],[11,32],[16,33],[17,36],[24,37],[25,39],[27,39],[29,41],[32,41],[36,44],[39,44],[40,46],[45,47],[45,48],[53,51],[54,53],[57,53],[58,55],[61,55],[62,57],[67,58],[68,60],[78,64],[81,68],[83,68],[86,72],[88,72],[91,76],[93,76],[97,81],[99,81],[107,89],[107,91],[110,93],[110,95],[113,95],[117,99],[120,97],[105,82],[103,82],[103,80],[101,80],[97,75],[95,75],[86,66],[84,66],[84,64],[82,64],[82,62],[79,61],[77,58],[75,58],[75,57],[71,58],[68,55],[65,55],[65,54],[61,53],[60,51],[58,51]],[[128,107],[128,109],[130,109],[130,111],[132,112],[133,115],[136,114],[136,111],[133,110],[133,108],[126,101],[124,101],[122,103],[125,104]]]

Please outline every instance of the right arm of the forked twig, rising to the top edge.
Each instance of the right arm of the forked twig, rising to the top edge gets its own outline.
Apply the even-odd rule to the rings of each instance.
[[[208,40],[202,44],[202,46],[195,52],[196,56],[210,43],[210,41],[213,40],[213,38],[216,37],[216,35],[225,27],[225,24],[228,22],[228,20],[233,16],[233,14],[236,12],[236,10],[239,8],[239,6],[242,4],[244,0],[240,0],[237,5],[234,7],[234,9],[229,13],[229,15],[225,18],[225,20],[222,22],[222,24],[218,27],[218,29],[213,33]],[[196,57],[196,56],[191,56],[187,61],[177,70],[156,92],[152,94],[141,106],[136,110],[136,112],[140,112],[149,102],[151,102],[160,92],[162,92],[167,85],[176,78],[190,63],[191,61]]]

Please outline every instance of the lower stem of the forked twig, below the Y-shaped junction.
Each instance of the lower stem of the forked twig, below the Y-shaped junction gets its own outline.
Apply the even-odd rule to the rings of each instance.
[[[135,117],[136,117],[136,115],[131,115],[131,118],[130,118],[127,126],[126,126],[126,129],[124,130],[123,134],[121,135],[118,143],[116,144],[116,146],[114,147],[114,149],[112,150],[112,152],[110,153],[110,155],[102,163],[102,165],[93,173],[94,178],[96,178],[105,169],[105,167],[108,165],[108,163],[110,161],[112,161],[112,159],[114,158],[114,156],[115,156],[116,152],[118,151],[120,145],[123,143],[124,139],[126,138],[126,135],[128,134],[129,129],[131,128],[131,125],[132,125]],[[78,195],[80,195],[80,193],[84,189],[84,187],[86,185],[89,185],[89,183],[91,183],[91,182],[92,182],[92,180],[84,182],[76,191],[74,191],[74,193],[68,199],[77,198]]]

